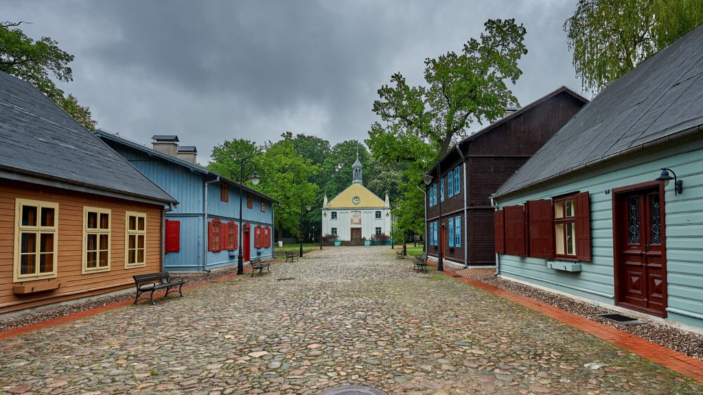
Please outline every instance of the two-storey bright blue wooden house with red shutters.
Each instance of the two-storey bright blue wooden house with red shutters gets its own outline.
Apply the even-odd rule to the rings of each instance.
[[[93,133],[181,202],[166,214],[166,270],[202,272],[237,264],[239,183],[196,164],[198,150],[179,146],[178,136],[153,136],[149,148],[99,129]],[[273,205],[279,202],[247,186],[243,194],[244,261],[271,258]]]

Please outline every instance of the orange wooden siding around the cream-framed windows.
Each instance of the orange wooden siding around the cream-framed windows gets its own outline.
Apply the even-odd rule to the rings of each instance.
[[[15,199],[56,202],[58,208],[57,278],[59,290],[13,294]],[[112,210],[110,271],[81,274],[83,207]],[[131,276],[161,269],[161,206],[3,180],[0,182],[0,313],[134,287]],[[146,266],[124,268],[124,213],[146,213]],[[45,283],[46,280],[36,280]],[[22,284],[29,285],[32,281]]]

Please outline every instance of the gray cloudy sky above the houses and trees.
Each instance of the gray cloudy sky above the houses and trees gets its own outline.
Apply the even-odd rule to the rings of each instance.
[[[98,127],[150,143],[177,134],[206,164],[226,139],[311,134],[366,138],[377,89],[423,60],[459,52],[488,19],[515,18],[529,53],[512,91],[520,104],[581,92],[562,30],[576,0],[31,1],[0,0],[1,19],[75,56],[73,82]]]

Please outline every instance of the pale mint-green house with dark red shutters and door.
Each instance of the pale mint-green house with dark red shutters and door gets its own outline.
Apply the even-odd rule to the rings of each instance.
[[[502,276],[703,332],[703,27],[607,86],[492,200]]]

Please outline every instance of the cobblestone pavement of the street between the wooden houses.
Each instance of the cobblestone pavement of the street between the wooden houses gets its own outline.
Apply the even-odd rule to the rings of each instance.
[[[335,247],[0,341],[14,394],[701,394],[703,384],[430,269]]]

